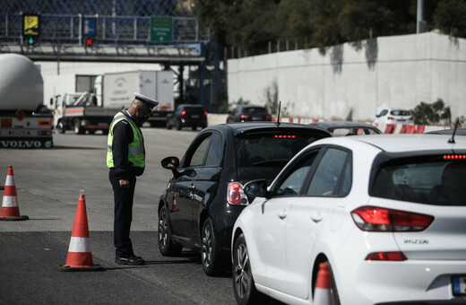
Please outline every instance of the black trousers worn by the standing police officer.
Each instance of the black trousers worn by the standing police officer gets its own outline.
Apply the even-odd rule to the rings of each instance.
[[[113,222],[113,238],[116,247],[116,257],[131,257],[134,255],[133,244],[129,238],[131,222],[133,221],[133,198],[136,177],[129,179],[129,188],[120,187],[120,180],[115,177],[115,171],[108,174],[113,187],[115,201],[115,219]]]

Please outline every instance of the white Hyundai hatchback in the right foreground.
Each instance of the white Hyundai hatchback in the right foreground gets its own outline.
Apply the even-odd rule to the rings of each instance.
[[[313,304],[320,263],[334,304],[466,304],[466,138],[332,137],[309,144],[233,229],[237,303]]]

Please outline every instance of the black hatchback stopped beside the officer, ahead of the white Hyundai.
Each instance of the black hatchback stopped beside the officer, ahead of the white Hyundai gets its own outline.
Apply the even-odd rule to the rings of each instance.
[[[234,123],[210,126],[197,135],[181,161],[168,157],[172,170],[159,203],[159,249],[177,256],[183,247],[201,253],[206,274],[221,274],[231,261],[231,231],[252,202],[243,184],[272,179],[307,144],[331,136],[299,125]]]

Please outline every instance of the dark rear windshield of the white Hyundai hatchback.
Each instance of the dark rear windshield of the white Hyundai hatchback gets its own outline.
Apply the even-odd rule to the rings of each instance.
[[[466,155],[403,158],[380,166],[369,193],[426,205],[464,206],[465,178]]]

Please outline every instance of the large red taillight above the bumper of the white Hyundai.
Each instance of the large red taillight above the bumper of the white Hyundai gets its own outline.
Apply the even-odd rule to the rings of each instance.
[[[433,216],[378,206],[358,207],[351,216],[362,231],[423,231],[434,221]]]

